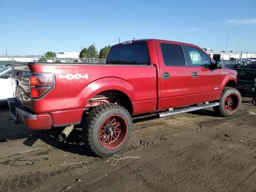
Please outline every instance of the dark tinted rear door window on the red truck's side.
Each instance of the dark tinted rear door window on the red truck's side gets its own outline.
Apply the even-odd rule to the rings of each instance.
[[[160,44],[166,66],[186,66],[180,45]]]

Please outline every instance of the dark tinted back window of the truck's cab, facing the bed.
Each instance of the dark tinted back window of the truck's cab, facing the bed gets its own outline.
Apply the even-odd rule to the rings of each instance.
[[[129,44],[111,48],[107,64],[149,64],[146,44]]]

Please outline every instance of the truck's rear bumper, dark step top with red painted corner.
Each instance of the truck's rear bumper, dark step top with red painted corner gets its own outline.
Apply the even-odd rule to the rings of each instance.
[[[21,106],[14,98],[7,99],[12,117],[17,124],[24,124],[30,130],[42,130],[52,128],[50,114],[33,114]]]

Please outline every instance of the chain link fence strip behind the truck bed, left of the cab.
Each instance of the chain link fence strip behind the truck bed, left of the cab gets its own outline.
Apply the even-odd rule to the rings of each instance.
[[[28,57],[0,57],[0,68],[22,62],[50,62],[50,63],[106,63],[106,59],[97,58],[28,58]]]

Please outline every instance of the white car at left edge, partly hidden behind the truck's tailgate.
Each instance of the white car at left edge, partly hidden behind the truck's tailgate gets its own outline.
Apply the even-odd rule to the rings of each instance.
[[[0,104],[7,103],[7,98],[13,97],[11,72],[10,66],[0,69]]]

